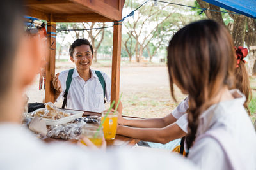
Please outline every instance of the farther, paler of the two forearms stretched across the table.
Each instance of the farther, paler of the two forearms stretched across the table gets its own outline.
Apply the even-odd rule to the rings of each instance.
[[[118,113],[118,124],[127,125],[132,127],[143,127],[143,128],[161,128],[166,127],[176,121],[172,113],[166,115],[163,118],[145,118],[145,119],[135,119],[135,118],[124,118],[121,113]]]

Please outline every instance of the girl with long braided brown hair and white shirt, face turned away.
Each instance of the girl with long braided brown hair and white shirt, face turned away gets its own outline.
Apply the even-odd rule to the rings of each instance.
[[[232,89],[234,55],[229,32],[212,20],[180,29],[168,46],[172,97],[173,84],[189,96],[187,156],[201,169],[256,169],[246,97]]]

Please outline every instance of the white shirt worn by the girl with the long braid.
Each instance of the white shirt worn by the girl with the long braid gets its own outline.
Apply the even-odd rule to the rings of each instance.
[[[196,140],[188,159],[200,169],[256,169],[256,133],[244,109],[244,95],[212,105],[199,118]]]

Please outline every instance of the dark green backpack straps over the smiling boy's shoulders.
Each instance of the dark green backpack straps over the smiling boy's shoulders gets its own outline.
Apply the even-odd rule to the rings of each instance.
[[[66,80],[66,90],[65,90],[64,95],[63,95],[64,101],[63,101],[63,104],[62,104],[61,108],[65,108],[65,106],[67,105],[68,90],[69,90],[69,87],[70,87],[70,84],[71,84],[71,81],[72,81],[73,72],[74,72],[74,69],[70,69],[68,71],[68,77],[67,77],[67,80]],[[106,100],[105,100],[105,90],[106,90],[105,80],[104,80],[102,74],[100,73],[100,71],[95,70],[95,73],[97,74],[97,76],[99,78],[99,81],[100,81],[100,84],[102,85],[103,99],[104,99],[104,103],[106,103]]]

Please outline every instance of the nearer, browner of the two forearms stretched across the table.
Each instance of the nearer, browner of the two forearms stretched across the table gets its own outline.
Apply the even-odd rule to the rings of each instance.
[[[165,144],[185,136],[186,132],[182,131],[179,125],[174,123],[163,128],[136,128],[118,125],[116,134]]]

